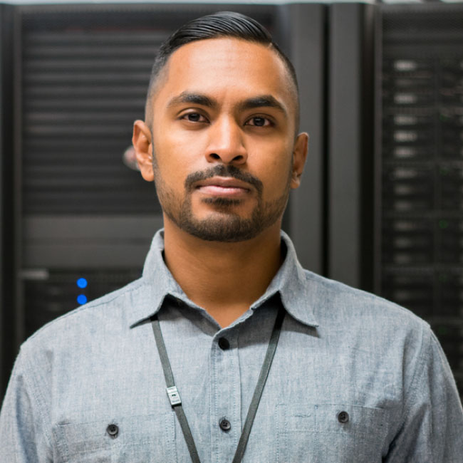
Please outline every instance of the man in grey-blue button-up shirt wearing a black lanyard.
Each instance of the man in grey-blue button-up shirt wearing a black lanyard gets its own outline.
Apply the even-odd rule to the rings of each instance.
[[[165,229],[140,280],[24,343],[1,462],[462,461],[427,323],[303,270],[280,231],[297,132],[293,67],[256,21],[162,46],[133,144]]]

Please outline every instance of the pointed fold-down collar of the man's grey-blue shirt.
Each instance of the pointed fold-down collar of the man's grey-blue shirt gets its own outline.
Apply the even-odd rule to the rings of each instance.
[[[280,293],[281,302],[288,313],[296,320],[308,326],[318,326],[313,316],[310,291],[311,285],[306,271],[299,264],[293,243],[289,236],[281,231],[281,239],[286,246],[286,257],[279,271],[274,276],[266,292],[252,304],[251,310],[256,310],[276,293]],[[168,294],[184,301],[189,306],[197,307],[187,298],[180,285],[175,281],[162,257],[164,251],[164,230],[157,231],[145,259],[141,287],[137,301],[134,301],[130,314],[130,326],[144,321],[157,313]]]

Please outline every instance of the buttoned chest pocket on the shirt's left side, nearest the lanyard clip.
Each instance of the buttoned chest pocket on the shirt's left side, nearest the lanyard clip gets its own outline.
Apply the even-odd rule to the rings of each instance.
[[[175,413],[57,425],[60,463],[177,462]]]

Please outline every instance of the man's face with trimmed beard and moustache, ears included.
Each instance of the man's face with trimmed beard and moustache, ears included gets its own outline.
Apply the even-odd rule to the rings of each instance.
[[[215,38],[172,53],[152,98],[152,140],[141,121],[134,131],[165,221],[209,241],[280,227],[307,145],[306,134],[294,137],[291,85],[281,58],[261,44]]]

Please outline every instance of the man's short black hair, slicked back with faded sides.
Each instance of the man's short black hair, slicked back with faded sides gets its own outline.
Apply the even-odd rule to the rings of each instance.
[[[184,26],[180,27],[167,38],[160,46],[159,52],[152,66],[150,83],[148,85],[147,100],[145,107],[145,119],[151,125],[152,121],[152,95],[155,93],[157,79],[167,60],[177,48],[194,41],[205,40],[207,38],[231,37],[241,40],[261,43],[262,45],[274,48],[277,55],[283,60],[288,70],[294,90],[296,93],[296,128],[298,126],[298,81],[294,66],[289,58],[281,51],[281,48],[274,42],[271,34],[255,19],[234,11],[219,11],[218,13],[202,16],[193,19]]]

